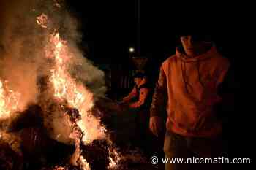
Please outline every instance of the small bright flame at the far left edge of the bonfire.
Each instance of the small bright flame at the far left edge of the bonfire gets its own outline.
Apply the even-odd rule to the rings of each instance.
[[[7,86],[4,87],[0,80],[0,119],[10,117],[10,114],[17,110],[19,98],[19,93],[9,90]]]

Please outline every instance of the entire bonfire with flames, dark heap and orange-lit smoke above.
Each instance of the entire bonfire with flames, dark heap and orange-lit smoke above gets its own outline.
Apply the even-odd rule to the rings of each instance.
[[[0,31],[0,169],[127,169],[94,106],[104,74],[75,45],[62,1],[24,1]]]

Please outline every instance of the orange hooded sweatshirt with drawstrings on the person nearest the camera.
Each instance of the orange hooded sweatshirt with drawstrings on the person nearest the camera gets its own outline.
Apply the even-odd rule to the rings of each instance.
[[[168,131],[182,136],[217,136],[222,132],[222,123],[213,107],[222,100],[217,88],[230,62],[214,46],[194,58],[187,58],[180,51],[176,48],[176,54],[162,63],[151,117],[161,116],[166,104]]]

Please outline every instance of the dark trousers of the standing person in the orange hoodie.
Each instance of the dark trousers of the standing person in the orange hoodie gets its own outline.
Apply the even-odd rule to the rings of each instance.
[[[200,169],[222,169],[221,163],[198,163],[199,158],[222,158],[223,153],[222,137],[199,138],[186,137],[178,134],[165,134],[164,144],[165,158],[197,158],[194,163],[165,163],[165,170],[200,170]],[[227,157],[226,157],[227,158]]]

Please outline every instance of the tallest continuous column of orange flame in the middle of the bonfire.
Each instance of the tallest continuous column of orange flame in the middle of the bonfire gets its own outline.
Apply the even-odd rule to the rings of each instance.
[[[47,58],[53,58],[55,61],[50,77],[54,96],[59,100],[67,100],[71,107],[78,109],[82,119],[77,124],[84,133],[83,142],[88,144],[94,139],[104,138],[105,127],[90,113],[90,109],[94,106],[93,94],[82,83],[76,82],[67,70],[68,63],[73,57],[73,54],[69,52],[67,42],[62,40],[57,33],[50,36],[50,44],[51,47],[47,49],[46,54]]]

